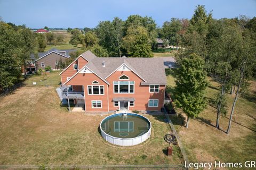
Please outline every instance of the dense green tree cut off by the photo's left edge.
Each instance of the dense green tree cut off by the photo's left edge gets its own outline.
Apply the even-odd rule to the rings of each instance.
[[[0,90],[17,83],[21,75],[19,53],[22,37],[10,25],[0,22]]]

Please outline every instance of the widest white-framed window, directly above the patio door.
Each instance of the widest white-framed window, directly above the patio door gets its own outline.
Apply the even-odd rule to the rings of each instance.
[[[134,93],[134,81],[114,81],[114,93]]]

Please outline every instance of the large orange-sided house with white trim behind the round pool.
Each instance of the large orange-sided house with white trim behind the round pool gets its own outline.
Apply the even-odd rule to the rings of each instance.
[[[60,76],[62,99],[85,112],[160,111],[164,105],[162,58],[97,57],[88,50]]]

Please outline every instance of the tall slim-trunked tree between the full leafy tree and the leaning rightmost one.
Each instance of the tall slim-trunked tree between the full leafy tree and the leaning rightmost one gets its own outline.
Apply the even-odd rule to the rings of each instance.
[[[219,36],[212,39],[212,48],[210,50],[210,65],[212,65],[211,74],[215,81],[220,84],[217,101],[217,120],[216,128],[219,129],[219,119],[221,110],[225,107],[225,93],[230,87],[232,80],[235,80],[237,69],[237,58],[241,50],[242,30],[237,24],[230,24],[223,21],[222,30]],[[223,107],[222,107],[223,105]],[[222,113],[223,114],[223,113]]]

